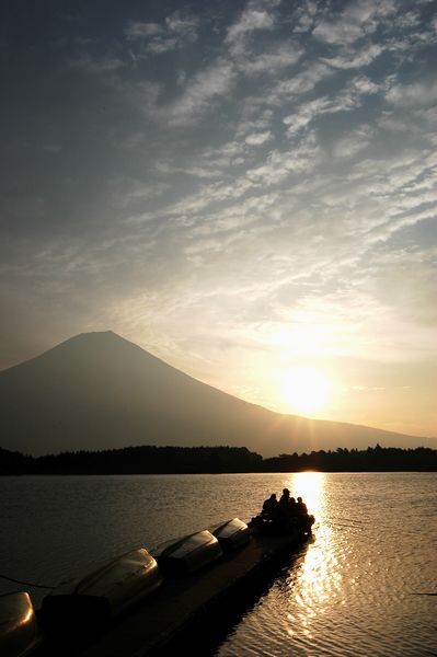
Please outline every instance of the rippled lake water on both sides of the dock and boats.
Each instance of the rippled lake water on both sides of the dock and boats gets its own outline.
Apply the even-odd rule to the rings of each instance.
[[[285,486],[315,515],[315,540],[215,655],[437,655],[436,473],[0,477],[0,573],[54,585],[138,545],[249,520]],[[21,588],[0,579],[0,592]],[[44,591],[27,590],[38,606]]]

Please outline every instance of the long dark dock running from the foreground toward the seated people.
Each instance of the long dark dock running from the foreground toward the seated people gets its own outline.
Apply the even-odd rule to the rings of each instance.
[[[62,646],[74,657],[160,657],[179,649],[187,636],[218,630],[230,609],[244,606],[248,590],[262,586],[310,537],[264,535],[252,530],[251,541],[192,575],[166,578],[149,598],[115,620],[88,645]],[[78,629],[79,630],[79,629]],[[64,637],[68,643],[68,637]],[[44,650],[57,653],[59,645]],[[198,649],[198,648],[197,648]],[[193,652],[192,652],[193,654]],[[202,652],[199,653],[202,654]]]

